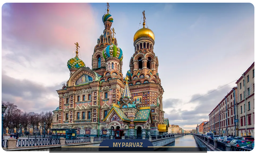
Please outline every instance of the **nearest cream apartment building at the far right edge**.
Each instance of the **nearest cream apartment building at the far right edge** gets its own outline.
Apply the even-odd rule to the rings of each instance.
[[[255,137],[255,62],[236,84],[238,135]]]

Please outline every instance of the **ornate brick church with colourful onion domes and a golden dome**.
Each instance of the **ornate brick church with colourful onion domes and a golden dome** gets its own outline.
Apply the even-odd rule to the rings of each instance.
[[[53,128],[77,129],[80,137],[158,136],[168,132],[164,118],[163,87],[154,53],[155,35],[145,27],[134,34],[130,70],[122,74],[123,51],[117,45],[113,17],[107,13],[105,29],[92,55],[92,69],[76,56],[67,62],[70,78],[57,90],[59,106],[53,111]],[[125,57],[126,58],[126,57]]]

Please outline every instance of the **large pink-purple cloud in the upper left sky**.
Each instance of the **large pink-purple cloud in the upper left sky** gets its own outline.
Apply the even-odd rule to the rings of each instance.
[[[95,20],[89,3],[8,4],[10,16],[2,16],[2,25],[5,25],[2,34],[16,42],[73,49],[75,42],[81,47],[87,46],[90,35],[95,35]]]

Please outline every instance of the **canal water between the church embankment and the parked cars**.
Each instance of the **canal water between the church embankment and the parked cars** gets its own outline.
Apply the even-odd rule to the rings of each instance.
[[[193,135],[185,135],[175,138],[175,142],[156,151],[201,151],[198,147]]]

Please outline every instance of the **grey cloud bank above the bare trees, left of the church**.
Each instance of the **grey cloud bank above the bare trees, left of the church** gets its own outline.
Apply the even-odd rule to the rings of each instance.
[[[64,82],[63,82],[64,83]],[[55,110],[58,106],[59,85],[45,87],[30,80],[18,80],[1,73],[1,98],[26,112]]]

